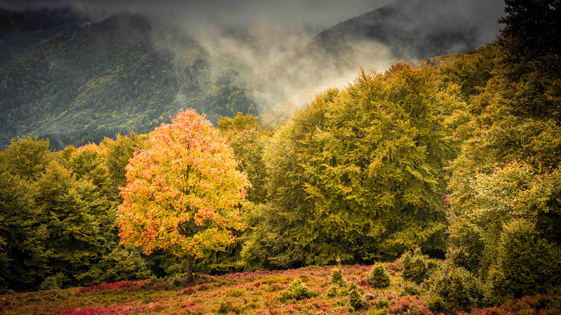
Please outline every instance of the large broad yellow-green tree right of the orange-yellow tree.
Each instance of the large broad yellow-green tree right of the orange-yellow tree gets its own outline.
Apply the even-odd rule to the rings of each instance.
[[[432,68],[402,63],[316,96],[266,147],[270,204],[242,256],[288,267],[444,248],[443,167],[457,150],[445,118],[459,106]]]

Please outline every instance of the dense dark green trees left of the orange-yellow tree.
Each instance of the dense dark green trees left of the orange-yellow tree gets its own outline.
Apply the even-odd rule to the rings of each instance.
[[[12,141],[0,155],[2,290],[35,289],[57,274],[65,285],[149,276],[140,253],[119,245],[122,173],[110,173],[143,139],[118,136],[58,152],[37,138]]]

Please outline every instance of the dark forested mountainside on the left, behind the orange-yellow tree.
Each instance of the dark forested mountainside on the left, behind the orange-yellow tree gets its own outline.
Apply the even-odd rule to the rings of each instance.
[[[232,79],[237,71],[211,69],[208,53],[181,33],[114,15],[0,64],[0,145],[33,133],[62,149],[150,132],[180,108],[211,119],[247,113],[252,99]]]

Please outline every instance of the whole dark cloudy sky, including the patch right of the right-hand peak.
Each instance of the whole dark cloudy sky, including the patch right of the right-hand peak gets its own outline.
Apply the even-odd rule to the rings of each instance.
[[[212,24],[222,27],[249,25],[266,21],[286,29],[298,29],[310,36],[348,18],[376,10],[395,0],[0,0],[0,7],[22,9],[51,6],[71,6],[88,12],[95,20],[113,13],[128,11],[144,13],[155,18],[187,27]],[[443,10],[465,12],[466,18],[483,24],[484,41],[494,39],[504,15],[503,0],[420,0]],[[459,4],[456,4],[458,2]]]

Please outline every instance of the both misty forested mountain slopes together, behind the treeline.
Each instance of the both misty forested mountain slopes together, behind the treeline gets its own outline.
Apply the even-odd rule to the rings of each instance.
[[[180,108],[205,113],[213,123],[237,112],[263,114],[258,120],[275,127],[295,108],[291,98],[307,91],[300,99],[309,99],[329,80],[356,73],[358,64],[380,59],[385,67],[483,44],[473,25],[449,31],[433,23],[424,34],[404,29],[416,8],[423,18],[442,20],[423,3],[398,1],[342,22],[263,73],[143,16],[119,14],[92,25],[70,9],[3,10],[0,147],[24,135],[48,138],[62,150],[116,133],[147,133]]]

